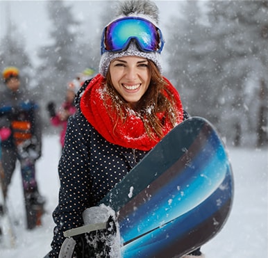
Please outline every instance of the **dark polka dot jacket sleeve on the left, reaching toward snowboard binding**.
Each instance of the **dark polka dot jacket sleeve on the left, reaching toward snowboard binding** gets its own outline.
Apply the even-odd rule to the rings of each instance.
[[[90,156],[87,141],[90,131],[78,125],[80,114],[69,118],[65,136],[65,147],[58,165],[60,191],[58,206],[53,211],[54,228],[50,257],[58,257],[65,240],[63,232],[83,225],[82,213],[90,203],[91,179]]]

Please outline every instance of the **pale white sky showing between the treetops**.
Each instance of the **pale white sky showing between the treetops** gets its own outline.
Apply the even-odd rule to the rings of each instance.
[[[73,12],[77,14],[78,20],[83,24],[85,33],[89,33],[92,28],[91,22],[94,22],[95,15],[99,15],[100,8],[96,6],[97,1],[67,1],[74,6]],[[99,1],[98,1],[99,2]],[[160,28],[165,35],[165,27],[167,19],[171,15],[178,13],[179,1],[156,1],[160,10]],[[10,16],[15,22],[20,35],[23,36],[26,44],[26,51],[31,52],[31,56],[35,55],[38,47],[44,45],[49,40],[49,17],[45,6],[46,1],[3,1],[0,0],[0,38],[6,33],[7,6],[9,6]],[[175,13],[176,12],[176,13]],[[88,34],[87,34],[88,35]]]

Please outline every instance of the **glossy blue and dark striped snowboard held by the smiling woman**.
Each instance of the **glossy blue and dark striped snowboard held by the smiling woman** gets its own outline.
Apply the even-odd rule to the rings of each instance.
[[[232,202],[224,143],[210,122],[194,117],[171,130],[99,205],[115,211],[122,257],[162,258],[182,257],[210,241],[226,223]]]

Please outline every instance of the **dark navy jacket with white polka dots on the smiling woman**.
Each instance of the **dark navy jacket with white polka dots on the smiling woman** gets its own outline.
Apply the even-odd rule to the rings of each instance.
[[[50,257],[58,257],[63,232],[83,225],[82,212],[97,205],[145,154],[109,143],[80,112],[69,118],[58,165],[60,191]]]

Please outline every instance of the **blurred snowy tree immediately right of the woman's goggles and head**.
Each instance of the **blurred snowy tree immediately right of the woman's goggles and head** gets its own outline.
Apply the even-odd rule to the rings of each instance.
[[[198,1],[185,1],[178,5],[178,16],[168,24],[169,78],[177,87],[185,109],[191,115],[201,115],[212,121],[217,95],[210,79],[212,64],[208,61],[212,42],[208,26]],[[214,108],[211,108],[214,106]]]

